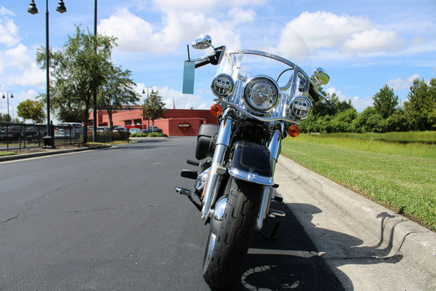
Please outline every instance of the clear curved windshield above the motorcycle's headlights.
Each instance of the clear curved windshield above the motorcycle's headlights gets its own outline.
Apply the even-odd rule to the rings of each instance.
[[[225,45],[218,73],[229,74],[234,80],[266,75],[286,88],[295,73],[294,64],[306,73],[311,70],[305,42],[296,31],[279,22],[245,23],[232,31]]]

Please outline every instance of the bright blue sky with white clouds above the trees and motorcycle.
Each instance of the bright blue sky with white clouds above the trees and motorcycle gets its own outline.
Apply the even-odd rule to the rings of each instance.
[[[0,0],[0,94],[13,94],[12,117],[20,102],[46,91],[45,71],[35,62],[36,50],[46,46],[46,1],[35,0],[35,15],[27,12],[30,2]],[[94,1],[64,3],[67,12],[60,14],[58,0],[48,0],[55,50],[78,25],[93,32]],[[197,69],[194,94],[182,94],[187,44],[204,33],[220,46],[242,23],[278,21],[298,32],[312,67],[330,76],[325,91],[351,100],[361,112],[384,85],[404,102],[415,78],[436,77],[435,15],[436,0],[99,0],[97,31],[117,38],[112,61],[132,72],[136,92],[158,91],[168,108],[208,109],[217,68]],[[191,49],[191,58],[204,53]],[[141,94],[140,102],[144,98]],[[6,99],[0,98],[0,112],[7,113]]]

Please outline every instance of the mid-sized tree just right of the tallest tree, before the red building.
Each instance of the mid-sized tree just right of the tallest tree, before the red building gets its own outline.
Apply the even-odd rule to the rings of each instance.
[[[108,111],[110,130],[113,127],[112,115],[124,105],[134,104],[139,101],[139,94],[133,91],[135,82],[130,79],[132,72],[123,71],[121,67],[111,64],[108,67],[105,82],[99,88],[98,106]]]

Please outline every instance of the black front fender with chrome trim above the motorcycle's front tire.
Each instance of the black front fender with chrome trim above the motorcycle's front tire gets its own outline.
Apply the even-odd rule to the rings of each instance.
[[[238,141],[234,145],[229,174],[235,179],[273,186],[271,154],[263,145]]]

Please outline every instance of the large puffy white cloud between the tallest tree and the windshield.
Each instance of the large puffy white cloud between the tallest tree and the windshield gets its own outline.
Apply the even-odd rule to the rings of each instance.
[[[157,31],[152,24],[124,8],[101,20],[98,31],[116,37],[120,50],[163,55],[178,50],[181,41],[190,42],[202,33],[210,34],[219,46],[235,24],[253,20],[255,12],[234,8],[228,11],[228,17],[230,20],[218,21],[195,11],[170,10],[162,16],[163,27]]]

